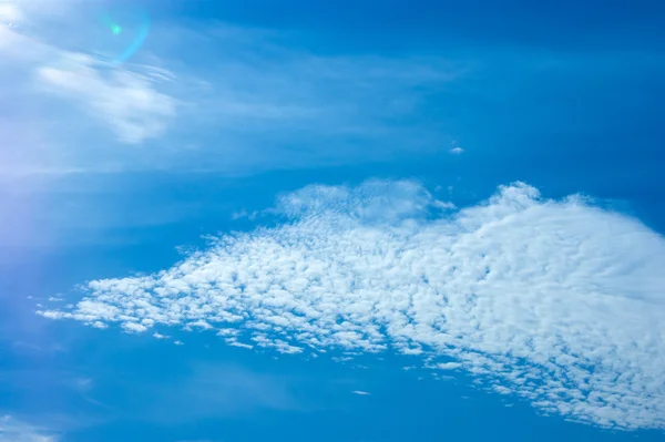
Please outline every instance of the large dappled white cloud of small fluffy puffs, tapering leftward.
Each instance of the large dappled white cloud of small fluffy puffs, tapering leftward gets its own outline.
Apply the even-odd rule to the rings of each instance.
[[[71,310],[41,313],[131,331],[205,323],[282,352],[420,354],[544,412],[665,428],[665,240],[640,222],[522,183],[456,212],[411,182],[309,186],[273,213],[277,227],[90,281]]]

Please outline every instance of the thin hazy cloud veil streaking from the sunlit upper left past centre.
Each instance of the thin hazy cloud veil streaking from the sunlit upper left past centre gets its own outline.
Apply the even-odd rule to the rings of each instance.
[[[0,171],[11,176],[247,173],[438,150],[444,131],[416,115],[466,69],[432,56],[323,55],[269,30],[160,21],[131,63],[110,65],[98,56],[109,42],[96,2],[62,2],[53,14],[34,4],[0,12],[18,23],[0,27],[0,96],[16,104],[0,119],[0,142],[14,146]],[[358,148],[367,142],[375,147]]]

